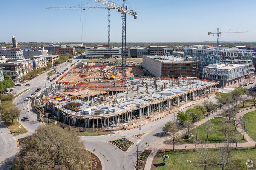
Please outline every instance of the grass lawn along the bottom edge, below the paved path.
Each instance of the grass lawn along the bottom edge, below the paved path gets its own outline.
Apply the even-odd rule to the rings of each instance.
[[[218,164],[218,151],[213,151],[211,149],[210,153],[212,154],[211,162],[213,170],[219,170],[221,167]],[[165,159],[165,165],[162,164],[163,162],[163,155],[168,155],[170,158]],[[237,150],[233,150],[232,154],[234,156],[231,158],[235,162],[242,162],[240,167],[241,169],[246,169],[245,162],[249,159],[255,159],[256,158],[256,149],[248,149],[248,148],[241,148]],[[191,162],[187,162],[187,160],[190,160]],[[152,170],[180,170],[180,169],[193,169],[193,170],[201,170],[203,169],[202,166],[200,166],[199,158],[197,156],[197,152],[193,152],[191,149],[188,149],[188,151],[185,151],[184,149],[177,149],[177,153],[173,153],[171,151],[158,151],[156,154],[151,169]],[[244,163],[243,163],[244,162]]]

